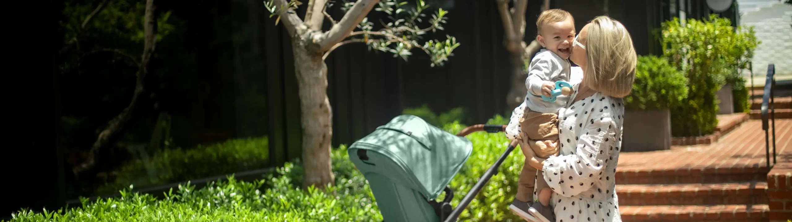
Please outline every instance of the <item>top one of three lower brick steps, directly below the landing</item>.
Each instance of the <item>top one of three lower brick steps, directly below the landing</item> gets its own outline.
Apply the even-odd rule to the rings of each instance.
[[[618,184],[680,184],[763,181],[767,178],[763,164],[734,164],[729,167],[675,169],[622,169],[616,171]]]

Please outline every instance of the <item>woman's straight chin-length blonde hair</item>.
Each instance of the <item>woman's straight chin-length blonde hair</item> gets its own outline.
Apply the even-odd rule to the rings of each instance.
[[[588,55],[584,84],[606,96],[630,95],[638,62],[630,32],[607,16],[596,17],[589,24],[584,43]]]

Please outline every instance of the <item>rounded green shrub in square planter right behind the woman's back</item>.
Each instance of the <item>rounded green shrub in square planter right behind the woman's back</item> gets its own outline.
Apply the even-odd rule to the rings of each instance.
[[[687,77],[664,58],[638,56],[635,82],[625,98],[623,150],[671,148],[671,107],[687,98]]]

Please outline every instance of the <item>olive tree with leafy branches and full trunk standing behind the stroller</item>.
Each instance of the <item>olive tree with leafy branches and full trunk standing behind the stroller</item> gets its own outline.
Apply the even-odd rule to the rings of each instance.
[[[333,1],[310,0],[306,13],[300,18],[295,12],[303,2],[297,0],[266,0],[265,6],[276,17],[275,23],[284,25],[291,37],[294,52],[295,75],[297,77],[303,129],[303,186],[314,185],[323,189],[334,184],[330,169],[330,141],[333,137],[333,111],[327,97],[327,65],[325,58],[334,49],[348,43],[365,43],[369,50],[393,53],[394,57],[407,59],[411,50],[424,51],[431,58],[432,66],[442,66],[459,46],[454,37],[447,40],[428,40],[419,43],[427,32],[443,30],[447,22],[447,11],[437,9],[432,17],[424,13],[428,5],[417,0],[414,6],[398,0],[344,1],[341,11],[344,16],[336,21],[327,13]],[[376,7],[376,8],[375,8]],[[367,15],[375,9],[386,13],[383,28],[374,29]],[[331,28],[322,30],[325,21]],[[425,27],[419,26],[425,24]]]

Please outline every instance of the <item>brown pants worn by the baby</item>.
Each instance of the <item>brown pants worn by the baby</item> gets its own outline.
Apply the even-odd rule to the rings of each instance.
[[[531,149],[533,149],[537,157],[545,159],[558,153],[558,146],[548,147],[544,144],[544,141],[558,141],[558,115],[535,112],[525,107],[523,117],[520,118],[520,130],[527,134],[531,144],[536,144],[531,146]],[[528,160],[531,160],[531,156],[525,157],[523,171],[520,172],[518,181],[519,186],[517,187],[516,198],[521,201],[531,201],[533,199],[532,194],[535,186],[541,186],[539,189],[547,186],[543,179],[542,171],[531,167],[528,164]],[[539,180],[534,184],[537,178]]]

